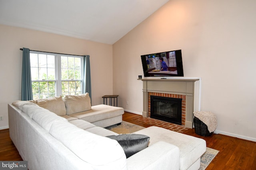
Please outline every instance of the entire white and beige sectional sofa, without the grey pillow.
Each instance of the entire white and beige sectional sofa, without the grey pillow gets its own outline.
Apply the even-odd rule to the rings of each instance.
[[[84,94],[64,100],[55,97],[8,104],[10,138],[22,159],[28,161],[29,170],[197,170],[200,167],[206,142],[160,127],[135,132],[150,137],[149,145],[126,158],[120,144],[107,137],[118,134],[102,128],[121,123],[124,110],[90,106],[88,97]]]

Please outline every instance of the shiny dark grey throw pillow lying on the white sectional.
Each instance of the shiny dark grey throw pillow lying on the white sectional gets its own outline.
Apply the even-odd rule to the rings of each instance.
[[[146,147],[148,147],[150,139],[150,137],[140,134],[120,134],[106,137],[118,141],[118,143],[124,149],[126,158],[129,158],[133,154],[136,154],[140,150],[143,150]]]

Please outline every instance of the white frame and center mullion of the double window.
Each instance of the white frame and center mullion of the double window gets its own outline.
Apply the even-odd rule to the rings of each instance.
[[[30,51],[30,53],[34,54],[43,54],[43,55],[54,55],[55,59],[55,80],[32,80],[32,82],[55,82],[55,96],[61,96],[62,95],[62,81],[80,81],[81,82],[81,93],[82,93],[82,84],[83,84],[83,63],[84,63],[84,57],[83,56],[77,56],[77,55],[65,55],[65,54],[58,54],[58,53],[47,53],[47,52],[40,52],[40,51]],[[62,80],[62,68],[61,68],[61,57],[76,57],[81,59],[81,79],[67,79]],[[65,96],[65,95],[62,95]],[[33,95],[34,97],[34,95]],[[40,97],[40,95],[39,95]]]

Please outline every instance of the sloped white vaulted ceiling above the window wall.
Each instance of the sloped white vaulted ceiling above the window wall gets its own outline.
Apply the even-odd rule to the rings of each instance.
[[[113,44],[168,0],[0,0],[0,24]]]

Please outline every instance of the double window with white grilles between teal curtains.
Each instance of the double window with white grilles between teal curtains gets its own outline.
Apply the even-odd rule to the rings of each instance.
[[[33,99],[82,94],[83,57],[30,51]]]

